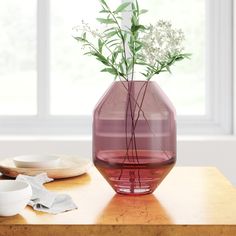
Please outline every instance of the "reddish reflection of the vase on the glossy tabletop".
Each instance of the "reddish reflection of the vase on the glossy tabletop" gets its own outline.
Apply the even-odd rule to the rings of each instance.
[[[172,219],[153,194],[116,194],[97,218],[98,224],[171,224]]]

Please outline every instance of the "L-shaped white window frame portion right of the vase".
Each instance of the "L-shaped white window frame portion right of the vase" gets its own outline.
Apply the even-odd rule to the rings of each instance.
[[[233,1],[206,0],[206,115],[179,118],[181,134],[233,133]]]

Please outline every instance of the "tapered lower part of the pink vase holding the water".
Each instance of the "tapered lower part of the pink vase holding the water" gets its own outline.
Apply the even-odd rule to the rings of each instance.
[[[135,153],[135,155],[134,155]],[[108,150],[99,152],[95,166],[120,194],[152,193],[175,164],[171,152]]]

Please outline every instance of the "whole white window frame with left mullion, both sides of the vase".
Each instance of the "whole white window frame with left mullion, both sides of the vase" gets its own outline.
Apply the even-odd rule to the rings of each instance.
[[[233,0],[206,0],[206,16],[207,114],[178,116],[179,134],[233,131]],[[127,23],[127,14],[124,18]],[[38,114],[34,116],[1,116],[0,133],[91,134],[89,115],[50,115],[50,0],[37,0],[37,106]]]

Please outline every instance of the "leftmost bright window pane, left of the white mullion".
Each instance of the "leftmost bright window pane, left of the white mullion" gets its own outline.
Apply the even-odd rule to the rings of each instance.
[[[0,115],[36,115],[36,1],[0,1]]]

